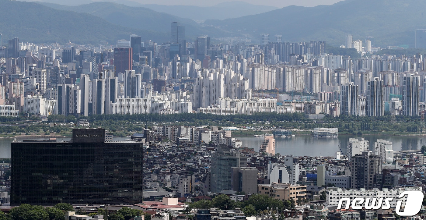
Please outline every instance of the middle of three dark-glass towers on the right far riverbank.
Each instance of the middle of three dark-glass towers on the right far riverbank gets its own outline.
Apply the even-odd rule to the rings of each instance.
[[[374,77],[367,82],[367,116],[383,116],[385,114],[383,93],[383,80]]]

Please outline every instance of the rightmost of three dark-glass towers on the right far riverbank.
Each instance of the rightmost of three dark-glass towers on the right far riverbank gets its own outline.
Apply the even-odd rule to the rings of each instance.
[[[419,112],[420,76],[406,73],[402,77],[402,114],[414,116]]]

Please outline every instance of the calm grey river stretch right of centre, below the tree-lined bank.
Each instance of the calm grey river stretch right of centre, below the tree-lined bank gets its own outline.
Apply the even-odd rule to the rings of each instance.
[[[259,151],[263,137],[234,136],[243,143],[243,147]],[[392,142],[394,151],[418,150],[426,145],[426,136],[393,136],[393,135],[339,135],[337,138],[315,138],[311,135],[294,137],[275,137],[275,152],[281,155],[294,156],[334,156],[339,151],[338,145],[346,154],[349,138],[363,137],[370,141],[370,151],[374,151],[374,142],[384,139]]]

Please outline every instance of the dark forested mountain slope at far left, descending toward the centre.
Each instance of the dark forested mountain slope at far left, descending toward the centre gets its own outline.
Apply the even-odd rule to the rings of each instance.
[[[0,0],[0,32],[3,45],[8,39],[33,43],[94,43],[127,39],[133,34],[144,39],[167,41],[164,33],[128,28],[87,13],[63,11],[38,3]]]

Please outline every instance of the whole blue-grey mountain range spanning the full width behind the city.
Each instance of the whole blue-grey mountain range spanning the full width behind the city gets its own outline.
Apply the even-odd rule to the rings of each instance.
[[[208,35],[212,38],[242,36],[258,43],[262,33],[269,33],[271,39],[273,35],[281,34],[285,41],[322,40],[329,45],[340,46],[344,44],[345,35],[351,34],[353,40],[373,36],[374,46],[384,47],[414,46],[415,29],[426,29],[426,23],[422,22],[426,18],[423,12],[425,0],[345,0],[330,6],[287,6],[243,17],[205,20],[203,23],[114,2],[81,6],[43,4],[0,0],[3,39],[17,36],[23,41],[37,43],[98,43],[104,40],[113,44],[134,33],[144,40],[162,43],[170,39],[170,22],[178,21],[185,26],[188,41]],[[190,9],[192,6],[185,7]]]

